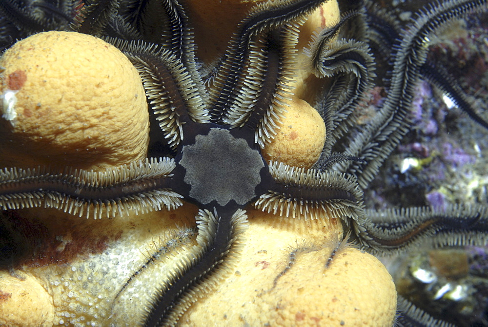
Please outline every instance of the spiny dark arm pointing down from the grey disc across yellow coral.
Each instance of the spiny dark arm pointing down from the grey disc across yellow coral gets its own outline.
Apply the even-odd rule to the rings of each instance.
[[[152,295],[142,318],[144,326],[173,326],[187,308],[223,278],[241,248],[238,241],[246,226],[245,212],[200,210],[198,246],[183,257],[163,287]]]

